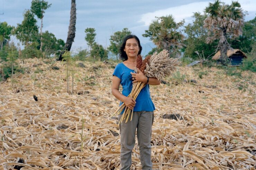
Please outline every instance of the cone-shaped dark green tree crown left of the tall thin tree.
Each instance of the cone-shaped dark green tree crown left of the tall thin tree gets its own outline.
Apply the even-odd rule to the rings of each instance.
[[[23,45],[28,46],[28,44],[37,40],[38,27],[34,14],[30,10],[27,10],[23,16],[24,20],[21,24],[18,23],[14,32],[17,39],[20,40]]]

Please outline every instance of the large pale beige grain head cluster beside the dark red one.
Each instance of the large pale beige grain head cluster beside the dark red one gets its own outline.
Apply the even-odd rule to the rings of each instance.
[[[175,66],[179,64],[180,62],[178,62],[177,58],[170,58],[168,51],[163,50],[159,54],[154,53],[150,57],[144,73],[148,77],[155,77],[160,80],[165,76],[171,75],[175,70]]]

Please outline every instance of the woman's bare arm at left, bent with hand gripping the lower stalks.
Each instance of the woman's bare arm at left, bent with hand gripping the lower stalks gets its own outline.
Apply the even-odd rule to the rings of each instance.
[[[132,110],[135,106],[135,100],[131,97],[127,97],[119,92],[119,86],[120,86],[120,78],[117,76],[113,76],[112,78],[112,94],[120,101],[124,102],[125,105]]]

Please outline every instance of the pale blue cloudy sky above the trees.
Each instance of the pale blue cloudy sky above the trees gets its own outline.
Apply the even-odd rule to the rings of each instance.
[[[46,0],[47,1],[47,0]],[[231,0],[221,0],[231,3]],[[66,41],[70,20],[71,0],[48,0],[52,4],[45,11],[43,32],[52,32],[57,39]],[[85,28],[96,30],[96,41],[103,47],[110,44],[110,36],[116,31],[128,28],[138,36],[143,47],[142,55],[146,55],[154,44],[142,34],[148,29],[155,17],[173,15],[176,22],[185,20],[191,23],[193,12],[203,12],[213,0],[76,0],[76,34],[71,50],[88,49],[84,40]],[[256,14],[256,0],[238,0],[241,8],[248,12],[245,21],[251,20]],[[31,0],[0,0],[0,22],[17,26],[23,20],[22,14],[30,9]],[[38,20],[38,26],[40,21]],[[17,42],[15,37],[12,40]]]

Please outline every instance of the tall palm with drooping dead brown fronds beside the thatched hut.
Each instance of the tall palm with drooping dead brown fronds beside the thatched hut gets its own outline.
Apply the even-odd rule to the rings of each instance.
[[[238,1],[231,5],[215,0],[205,8],[208,17],[204,20],[204,27],[209,30],[206,42],[209,44],[215,39],[219,40],[217,50],[220,50],[222,64],[228,64],[227,51],[230,47],[228,39],[233,39],[242,34],[244,13]]]

